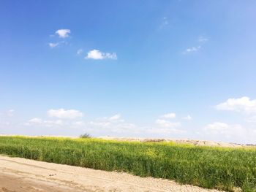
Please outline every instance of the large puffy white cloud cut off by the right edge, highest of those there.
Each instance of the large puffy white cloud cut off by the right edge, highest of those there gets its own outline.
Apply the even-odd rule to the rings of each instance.
[[[227,99],[227,101],[217,104],[217,110],[236,111],[255,113],[256,112],[256,99],[251,100],[249,97],[244,96],[238,99]]]

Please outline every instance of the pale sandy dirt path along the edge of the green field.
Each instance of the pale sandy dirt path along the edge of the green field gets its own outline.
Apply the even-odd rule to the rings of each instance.
[[[170,180],[0,155],[0,191],[210,191]],[[214,191],[214,190],[211,190]]]

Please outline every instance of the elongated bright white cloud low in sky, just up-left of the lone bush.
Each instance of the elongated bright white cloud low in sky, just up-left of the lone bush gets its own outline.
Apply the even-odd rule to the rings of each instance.
[[[48,116],[53,118],[66,118],[66,119],[73,119],[73,118],[81,118],[83,117],[83,113],[78,110],[48,110]]]

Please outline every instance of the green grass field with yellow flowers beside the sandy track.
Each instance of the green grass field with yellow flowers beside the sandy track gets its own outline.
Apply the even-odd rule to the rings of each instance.
[[[129,172],[179,183],[256,191],[255,148],[196,147],[172,142],[0,137],[0,153],[57,164]]]

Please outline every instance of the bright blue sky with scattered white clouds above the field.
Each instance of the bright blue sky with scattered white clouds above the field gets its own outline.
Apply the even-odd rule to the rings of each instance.
[[[256,1],[0,1],[0,134],[256,144]]]

